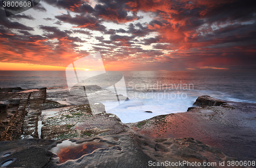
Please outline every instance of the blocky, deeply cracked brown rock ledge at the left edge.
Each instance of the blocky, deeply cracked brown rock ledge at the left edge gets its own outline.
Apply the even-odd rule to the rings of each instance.
[[[38,138],[37,123],[46,101],[46,88],[0,91],[0,140]]]

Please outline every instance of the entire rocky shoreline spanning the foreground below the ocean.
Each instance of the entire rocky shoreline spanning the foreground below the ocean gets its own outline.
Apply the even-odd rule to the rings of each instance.
[[[116,115],[92,111],[87,104],[48,100],[47,88],[2,88],[0,166],[152,167],[149,161],[188,161],[223,167],[220,161],[255,161],[256,104],[201,96],[194,105],[187,112],[123,124]],[[66,155],[56,155],[52,150],[62,143],[70,148],[59,149]],[[68,155],[72,150],[76,156]]]

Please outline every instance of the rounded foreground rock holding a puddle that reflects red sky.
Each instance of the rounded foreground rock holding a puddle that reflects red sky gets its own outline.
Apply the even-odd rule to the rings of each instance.
[[[23,139],[2,141],[0,162],[13,159],[10,167],[152,167],[157,162],[234,161],[218,148],[193,138],[154,139],[140,134],[108,135],[70,139],[74,145],[61,147],[66,140]],[[67,141],[66,141],[67,142]],[[70,143],[71,143],[70,142]],[[69,144],[70,144],[69,143]],[[79,145],[80,144],[80,145]],[[79,148],[76,148],[79,146]],[[57,149],[56,149],[57,148]],[[52,152],[54,153],[52,153]],[[5,154],[10,154],[4,157]],[[57,155],[56,155],[57,154]],[[67,158],[70,158],[67,160]],[[154,167],[189,167],[154,166]],[[200,166],[193,166],[200,167]],[[208,166],[208,167],[220,167]],[[228,167],[228,166],[225,166]]]

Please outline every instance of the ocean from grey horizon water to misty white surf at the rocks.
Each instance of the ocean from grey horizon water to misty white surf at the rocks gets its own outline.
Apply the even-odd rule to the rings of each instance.
[[[161,114],[185,112],[200,95],[256,103],[255,71],[120,72],[130,101],[107,112],[116,114],[123,123],[134,123]],[[65,71],[0,71],[1,88],[47,87],[49,93],[54,93],[59,90],[67,91],[67,86]],[[51,97],[48,96],[48,99]],[[65,103],[61,99],[52,100]]]

